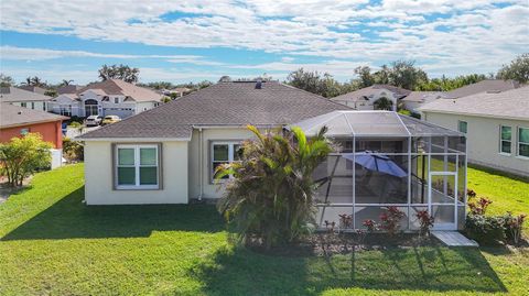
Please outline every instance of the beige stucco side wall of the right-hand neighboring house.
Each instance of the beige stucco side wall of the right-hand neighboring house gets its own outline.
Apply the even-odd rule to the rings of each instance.
[[[423,119],[455,131],[457,121],[466,121],[469,163],[529,176],[529,158],[517,156],[517,130],[518,127],[529,128],[529,119],[521,121],[434,112],[424,112]],[[512,128],[510,155],[499,153],[500,125]]]

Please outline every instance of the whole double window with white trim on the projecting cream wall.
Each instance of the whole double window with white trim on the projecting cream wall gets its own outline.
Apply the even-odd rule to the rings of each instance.
[[[116,145],[116,188],[159,189],[158,145]]]

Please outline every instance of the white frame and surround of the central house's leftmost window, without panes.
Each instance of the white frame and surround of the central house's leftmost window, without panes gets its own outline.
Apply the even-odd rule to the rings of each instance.
[[[134,150],[134,183],[136,185],[119,185],[118,184],[118,168],[120,165],[118,164],[119,155],[118,152],[120,149],[133,149]],[[140,164],[140,149],[155,149],[156,151],[156,184],[153,185],[141,185],[140,184],[140,167],[154,167],[154,165],[141,165]],[[115,188],[117,190],[130,190],[130,189],[160,189],[160,149],[156,144],[117,144],[115,147],[114,154],[114,175],[115,175]],[[123,166],[125,167],[125,166]],[[131,166],[129,166],[131,167]]]

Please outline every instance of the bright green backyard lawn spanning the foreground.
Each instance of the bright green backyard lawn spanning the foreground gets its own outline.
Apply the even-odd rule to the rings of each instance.
[[[262,255],[214,207],[86,207],[83,190],[72,165],[0,206],[0,295],[529,295],[528,250]]]

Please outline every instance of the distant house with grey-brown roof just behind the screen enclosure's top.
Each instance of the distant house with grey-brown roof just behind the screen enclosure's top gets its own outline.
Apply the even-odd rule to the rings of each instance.
[[[355,110],[374,110],[375,101],[380,98],[387,98],[392,102],[392,110],[396,111],[399,100],[410,92],[411,90],[390,85],[373,85],[331,98],[331,100],[348,106]]]

